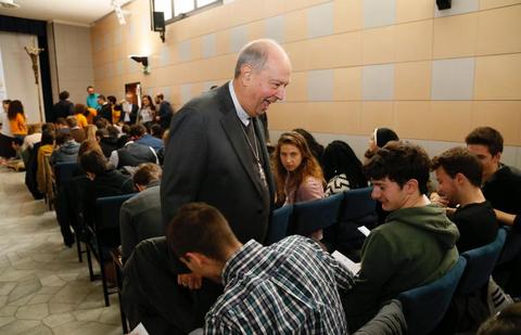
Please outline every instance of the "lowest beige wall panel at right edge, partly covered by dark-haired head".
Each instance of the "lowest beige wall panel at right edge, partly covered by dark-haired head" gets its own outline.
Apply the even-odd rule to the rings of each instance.
[[[521,101],[475,101],[472,128],[490,126],[497,129],[507,145],[521,145]]]

